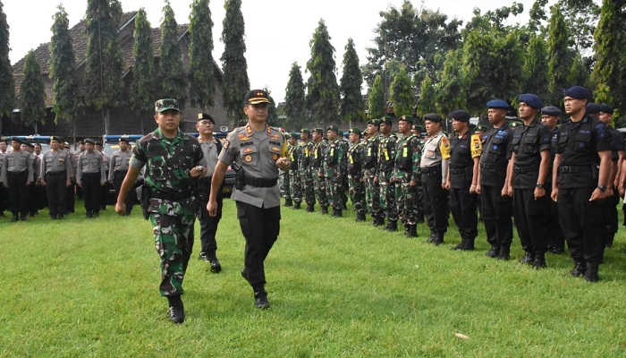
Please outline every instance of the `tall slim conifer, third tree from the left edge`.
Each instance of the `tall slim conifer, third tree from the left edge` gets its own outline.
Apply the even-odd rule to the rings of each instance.
[[[50,80],[53,81],[52,111],[55,123],[59,118],[73,122],[83,109],[82,94],[76,79],[76,55],[72,47],[70,21],[62,5],[53,16],[52,39],[50,40]]]

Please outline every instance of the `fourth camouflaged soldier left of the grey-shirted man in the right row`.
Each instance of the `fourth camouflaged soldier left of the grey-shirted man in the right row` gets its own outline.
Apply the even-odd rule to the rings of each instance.
[[[356,221],[365,221],[367,211],[365,203],[365,182],[363,181],[363,159],[365,159],[365,143],[360,141],[359,128],[350,129],[350,142],[348,149],[348,187],[352,209],[356,211]]]

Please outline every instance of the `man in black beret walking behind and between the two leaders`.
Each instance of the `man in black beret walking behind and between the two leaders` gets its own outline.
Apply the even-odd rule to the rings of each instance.
[[[216,121],[213,116],[206,113],[198,115],[196,131],[199,133],[200,148],[207,162],[207,173],[198,179],[198,221],[200,223],[201,250],[199,259],[205,260],[211,265],[211,272],[219,273],[222,265],[217,260],[217,226],[222,218],[224,183],[216,192],[216,215],[210,216],[207,212],[208,197],[211,194],[211,180],[217,165],[217,157],[222,152],[222,142],[214,135]],[[193,236],[193,234],[191,234]]]

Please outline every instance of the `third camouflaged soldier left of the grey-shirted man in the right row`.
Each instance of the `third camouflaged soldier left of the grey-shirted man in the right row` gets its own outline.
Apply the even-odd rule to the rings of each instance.
[[[365,202],[372,216],[372,225],[385,224],[385,213],[380,205],[380,183],[378,173],[378,146],[380,145],[380,122],[377,119],[368,121],[369,138],[365,141],[365,158],[363,159],[363,180],[365,181]]]

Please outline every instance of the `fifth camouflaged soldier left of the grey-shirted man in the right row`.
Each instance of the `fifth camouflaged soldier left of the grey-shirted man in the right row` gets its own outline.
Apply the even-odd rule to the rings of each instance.
[[[326,196],[333,207],[333,217],[342,217],[348,145],[339,135],[339,128],[336,125],[326,128],[326,135],[328,136],[328,147],[324,154]]]

